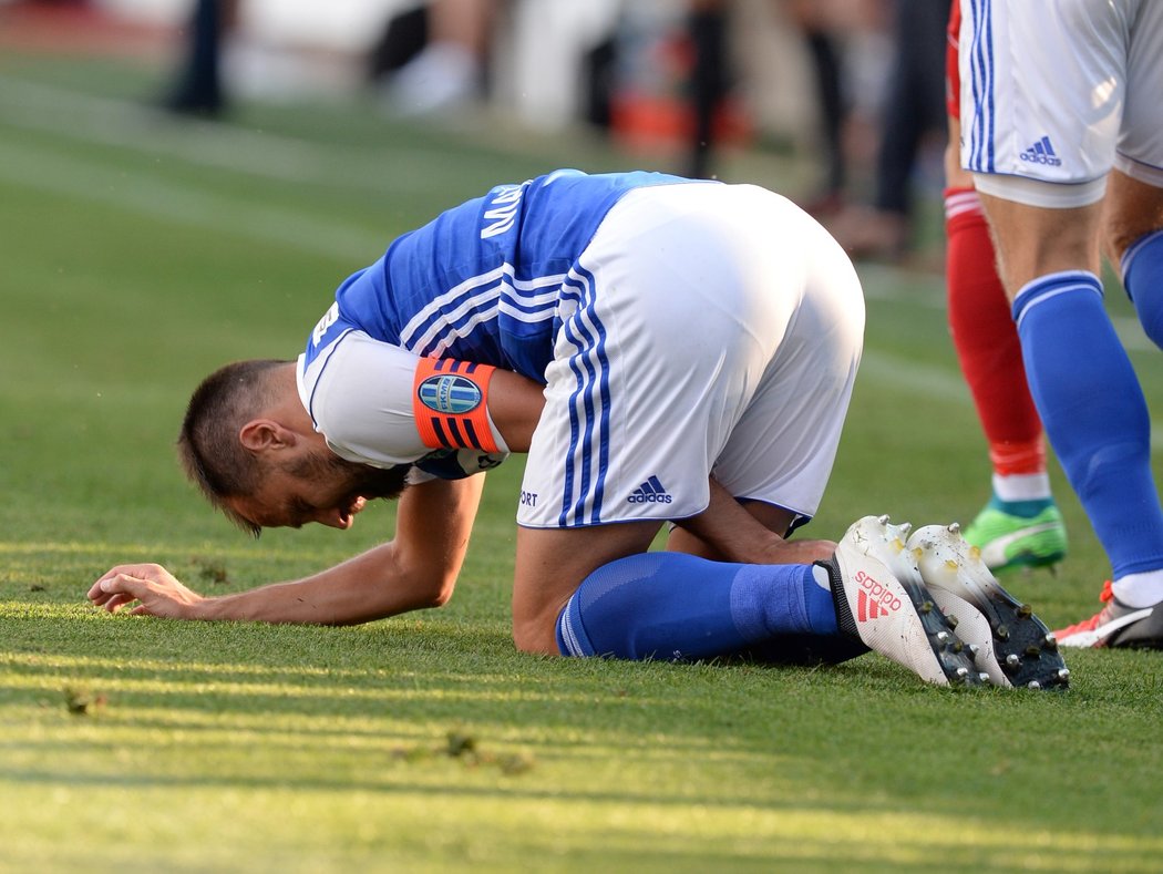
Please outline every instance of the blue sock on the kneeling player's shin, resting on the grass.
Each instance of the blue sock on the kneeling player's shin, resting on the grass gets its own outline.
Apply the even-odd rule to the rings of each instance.
[[[811,564],[729,564],[643,553],[590,574],[557,619],[563,655],[707,659],[779,634],[839,635]]]

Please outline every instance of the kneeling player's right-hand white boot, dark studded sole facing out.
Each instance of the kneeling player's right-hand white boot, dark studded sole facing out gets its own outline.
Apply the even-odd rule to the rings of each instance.
[[[1030,689],[1065,688],[1070,670],[1046,624],[1001,588],[982,561],[982,550],[961,534],[961,526],[926,525],[908,538],[921,576],[937,598],[969,602],[984,617],[989,634],[975,644],[985,653],[979,663],[998,685]],[[964,620],[963,620],[964,624]],[[957,626],[958,628],[962,625]],[[982,660],[984,655],[984,660]]]

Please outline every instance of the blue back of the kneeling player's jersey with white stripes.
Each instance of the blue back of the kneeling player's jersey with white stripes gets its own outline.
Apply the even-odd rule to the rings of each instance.
[[[633,189],[682,182],[641,171],[558,170],[454,207],[340,285],[308,340],[304,367],[345,333],[362,331],[420,356],[542,381],[562,284],[606,213]]]

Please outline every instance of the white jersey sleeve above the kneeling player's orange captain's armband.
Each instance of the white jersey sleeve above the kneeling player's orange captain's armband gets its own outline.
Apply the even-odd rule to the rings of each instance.
[[[299,363],[299,393],[341,459],[386,468],[426,456],[412,411],[419,356],[348,331],[323,355]]]

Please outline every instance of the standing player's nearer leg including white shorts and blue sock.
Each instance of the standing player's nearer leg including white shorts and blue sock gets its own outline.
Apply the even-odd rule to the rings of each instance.
[[[961,44],[975,50],[961,56],[962,162],[998,241],[1030,395],[1114,582],[1139,591],[1163,574],[1163,509],[1147,404],[1103,305],[1099,229],[1112,165],[1163,164],[1151,87],[1163,7],[1139,5],[1129,27],[1121,6],[1086,0],[1053,21],[1027,3],[963,10]],[[1101,645],[1090,631],[1065,630],[1062,644]]]

